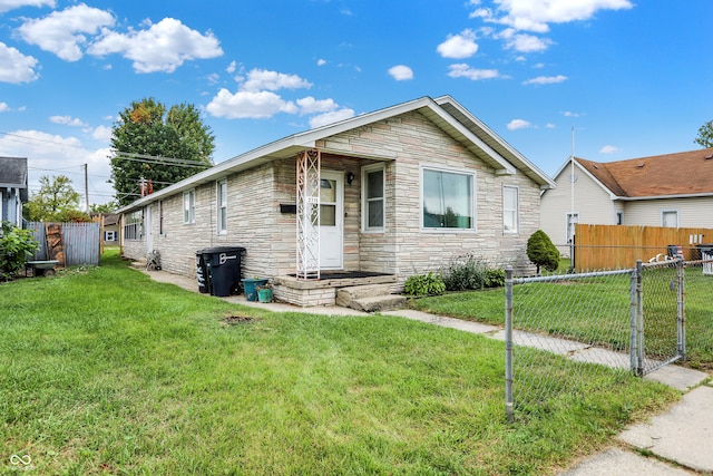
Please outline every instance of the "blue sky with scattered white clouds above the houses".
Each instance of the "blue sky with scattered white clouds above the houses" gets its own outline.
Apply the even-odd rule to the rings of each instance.
[[[131,101],[189,103],[214,161],[451,95],[545,173],[699,148],[713,1],[0,0],[0,155],[111,198]]]

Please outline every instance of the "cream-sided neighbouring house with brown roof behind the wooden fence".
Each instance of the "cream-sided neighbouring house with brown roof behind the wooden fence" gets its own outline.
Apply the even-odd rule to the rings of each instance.
[[[713,148],[608,163],[569,158],[555,182],[543,192],[541,229],[563,254],[574,223],[713,227]]]

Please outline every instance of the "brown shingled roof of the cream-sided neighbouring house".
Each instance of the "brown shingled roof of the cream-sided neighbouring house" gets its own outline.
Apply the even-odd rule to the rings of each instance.
[[[608,163],[575,161],[623,200],[713,194],[713,148]]]

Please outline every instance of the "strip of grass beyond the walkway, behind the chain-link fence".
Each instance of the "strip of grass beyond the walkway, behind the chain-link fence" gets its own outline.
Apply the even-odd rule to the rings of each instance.
[[[686,269],[686,362],[713,369],[713,312],[709,303],[712,276]],[[675,270],[644,272],[645,344],[652,358],[676,353]],[[505,323],[505,290],[450,293],[410,301],[414,309],[490,324]],[[518,309],[518,305],[520,307]],[[516,327],[546,331],[584,342],[627,349],[629,340],[629,275],[589,278],[575,282],[516,285]]]

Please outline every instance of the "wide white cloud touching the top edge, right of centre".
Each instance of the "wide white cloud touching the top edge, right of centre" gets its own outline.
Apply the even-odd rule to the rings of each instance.
[[[566,23],[588,20],[598,10],[622,10],[633,8],[629,0],[494,0],[496,9],[480,8],[478,0],[471,18],[507,25],[517,30],[547,32],[549,23]]]

